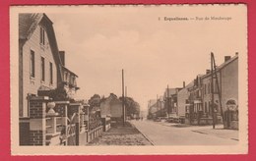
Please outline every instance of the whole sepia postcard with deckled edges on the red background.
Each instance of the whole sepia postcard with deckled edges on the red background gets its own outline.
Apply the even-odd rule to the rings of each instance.
[[[247,6],[12,6],[12,155],[246,154]]]

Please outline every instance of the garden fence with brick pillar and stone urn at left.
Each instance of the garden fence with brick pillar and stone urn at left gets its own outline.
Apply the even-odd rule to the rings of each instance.
[[[30,118],[20,119],[20,145],[85,145],[102,134],[100,115],[69,101],[30,99]]]

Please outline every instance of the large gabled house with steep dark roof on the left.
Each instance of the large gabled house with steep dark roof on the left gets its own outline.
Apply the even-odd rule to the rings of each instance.
[[[58,86],[68,95],[78,89],[77,75],[65,67],[52,22],[45,14],[19,15],[19,116],[29,117],[31,96],[47,95]]]

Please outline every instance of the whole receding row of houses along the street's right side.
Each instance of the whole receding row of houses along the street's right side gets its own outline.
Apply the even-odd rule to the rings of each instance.
[[[160,98],[149,100],[148,110],[150,119],[178,118],[185,124],[238,129],[238,53],[225,56],[213,73],[206,70],[187,85],[167,87]]]

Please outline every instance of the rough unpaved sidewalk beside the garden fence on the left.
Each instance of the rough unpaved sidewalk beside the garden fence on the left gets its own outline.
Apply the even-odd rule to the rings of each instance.
[[[151,143],[130,123],[126,123],[124,127],[112,127],[88,145],[151,145]]]

